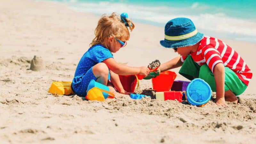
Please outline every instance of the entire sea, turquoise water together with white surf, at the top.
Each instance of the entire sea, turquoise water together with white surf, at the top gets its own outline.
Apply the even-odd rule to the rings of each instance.
[[[190,18],[209,36],[256,42],[256,0],[51,0],[96,15],[127,12],[135,23],[164,27],[176,17]]]

